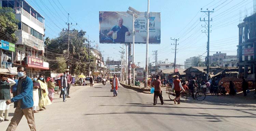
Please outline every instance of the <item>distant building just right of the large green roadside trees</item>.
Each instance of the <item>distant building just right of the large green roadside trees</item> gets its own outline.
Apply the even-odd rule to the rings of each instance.
[[[99,75],[99,76],[104,76],[105,74],[105,64],[104,64],[104,61],[103,61],[103,57],[102,57],[102,54],[101,52],[99,52],[98,50],[94,49],[94,48],[90,48],[90,51],[91,51],[91,55],[93,55],[95,57],[95,75]]]

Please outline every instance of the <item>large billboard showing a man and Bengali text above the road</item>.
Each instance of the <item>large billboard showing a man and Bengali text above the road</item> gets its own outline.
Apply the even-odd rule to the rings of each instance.
[[[159,44],[161,38],[161,16],[159,12],[150,13],[149,43]],[[99,12],[100,43],[131,43],[132,16],[126,12]],[[134,20],[135,43],[146,43],[147,19],[145,13]]]

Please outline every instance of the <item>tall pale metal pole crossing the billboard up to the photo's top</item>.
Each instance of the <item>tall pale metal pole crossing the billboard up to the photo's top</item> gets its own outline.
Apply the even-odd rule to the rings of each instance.
[[[145,88],[147,87],[147,66],[148,66],[148,38],[149,38],[149,4],[150,4],[150,0],[147,0],[147,41],[146,41],[146,76],[145,76]]]

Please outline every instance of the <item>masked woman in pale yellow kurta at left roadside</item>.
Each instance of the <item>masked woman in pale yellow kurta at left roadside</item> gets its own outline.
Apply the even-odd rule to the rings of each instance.
[[[39,75],[39,80],[37,80],[40,83],[40,88],[41,88],[41,99],[39,100],[39,111],[43,111],[46,110],[45,106],[46,105],[51,105],[52,102],[48,97],[48,87],[47,84],[44,80],[44,75],[40,74]]]

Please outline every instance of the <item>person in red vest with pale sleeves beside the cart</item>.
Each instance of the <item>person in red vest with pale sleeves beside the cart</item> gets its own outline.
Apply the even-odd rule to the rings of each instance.
[[[173,84],[172,84],[172,90],[174,89],[175,91],[175,94],[176,94],[176,97],[174,98],[174,104],[181,104],[181,99],[180,99],[180,96],[181,96],[181,90],[185,91],[184,88],[182,87],[181,85],[181,80],[179,80],[179,76],[178,75],[175,75],[175,78],[174,78],[174,81],[173,81]]]

